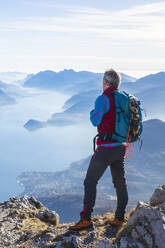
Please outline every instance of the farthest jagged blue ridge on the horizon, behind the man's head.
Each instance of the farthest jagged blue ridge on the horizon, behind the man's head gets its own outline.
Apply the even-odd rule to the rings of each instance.
[[[123,82],[135,81],[136,79],[121,73]],[[40,89],[50,89],[66,93],[80,93],[82,91],[101,89],[103,73],[94,73],[89,71],[76,72],[72,69],[60,72],[41,71],[27,79],[25,87],[34,87]]]

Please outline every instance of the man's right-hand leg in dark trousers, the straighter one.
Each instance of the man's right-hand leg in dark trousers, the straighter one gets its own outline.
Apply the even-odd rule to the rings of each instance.
[[[124,170],[124,154],[120,156],[119,160],[116,160],[111,164],[110,169],[117,194],[115,218],[122,221],[124,220],[125,209],[128,203],[128,190]]]

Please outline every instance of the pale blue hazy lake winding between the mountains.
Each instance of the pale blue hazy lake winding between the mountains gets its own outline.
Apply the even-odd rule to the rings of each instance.
[[[96,129],[86,124],[47,127],[35,132],[23,125],[29,119],[45,121],[60,112],[70,97],[57,92],[25,89],[26,97],[0,107],[0,201],[23,191],[16,177],[23,171],[57,171],[93,152]]]

